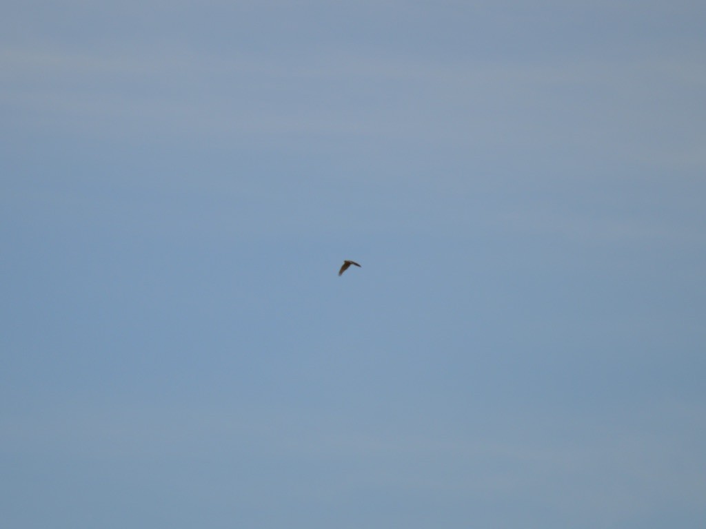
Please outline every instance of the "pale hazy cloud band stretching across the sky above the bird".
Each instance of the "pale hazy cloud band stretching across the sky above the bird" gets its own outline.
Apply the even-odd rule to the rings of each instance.
[[[79,116],[71,126],[80,130],[83,123],[97,134],[338,134],[498,151],[603,150],[698,168],[702,112],[688,95],[704,80],[690,75],[697,63],[682,60],[675,70],[667,62],[438,64],[351,56],[291,63],[174,50],[0,54],[5,104],[26,111],[32,123],[66,116],[68,125],[69,116]],[[670,99],[666,90],[687,97]]]

